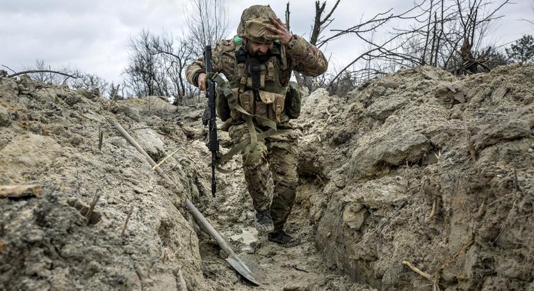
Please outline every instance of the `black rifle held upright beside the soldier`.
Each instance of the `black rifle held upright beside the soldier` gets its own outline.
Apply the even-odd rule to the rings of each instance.
[[[211,79],[213,74],[213,68],[211,66],[211,45],[206,46],[204,51],[204,63],[206,66],[206,74],[208,75],[208,109],[209,109],[209,141],[206,146],[211,152],[211,195],[215,197],[216,184],[215,184],[215,168],[217,162],[217,152],[219,151],[219,140],[217,139],[217,124],[215,121],[215,84]]]

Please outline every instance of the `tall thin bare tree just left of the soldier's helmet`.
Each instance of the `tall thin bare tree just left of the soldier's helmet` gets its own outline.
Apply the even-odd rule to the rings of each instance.
[[[206,45],[215,45],[227,36],[227,6],[223,0],[191,0],[186,13],[191,47],[195,57],[202,56]]]

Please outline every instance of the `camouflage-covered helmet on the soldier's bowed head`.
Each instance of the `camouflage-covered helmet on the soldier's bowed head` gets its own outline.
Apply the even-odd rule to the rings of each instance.
[[[241,21],[237,26],[237,35],[259,43],[272,41],[267,37],[268,34],[271,34],[271,31],[266,26],[272,25],[269,17],[276,18],[276,14],[270,6],[250,6],[243,10]]]

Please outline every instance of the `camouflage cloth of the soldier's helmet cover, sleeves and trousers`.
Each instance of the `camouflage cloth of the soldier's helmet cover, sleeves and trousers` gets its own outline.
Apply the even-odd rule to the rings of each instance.
[[[243,32],[245,26],[250,27],[268,22],[266,15],[276,17],[268,6],[252,6],[243,12],[238,28],[238,35]],[[261,18],[263,17],[263,18]],[[248,19],[259,19],[259,22],[246,22]],[[263,24],[261,23],[263,22]],[[257,36],[245,35],[245,38],[254,42],[262,42],[262,35],[266,31],[259,31]],[[280,45],[281,65],[277,77],[283,88],[289,86],[291,72],[296,70],[301,74],[316,77],[323,74],[327,69],[327,60],[323,53],[304,38],[293,35],[293,39],[287,45]],[[228,80],[236,77],[236,38],[218,42],[212,52],[213,71],[225,75]],[[198,74],[205,72],[203,58],[193,61],[186,69],[187,80],[197,86]],[[234,116],[235,117],[235,116]],[[295,200],[298,183],[297,157],[298,135],[289,124],[289,117],[282,112],[276,121],[277,133],[268,136],[256,143],[254,151],[250,152],[250,144],[241,154],[243,157],[243,171],[248,191],[252,196],[254,209],[257,211],[268,210],[273,219],[275,230],[282,230],[284,223],[291,212]],[[254,121],[259,129],[267,129],[264,125]],[[250,139],[250,133],[244,120],[235,118],[229,127],[229,136],[234,143]],[[268,196],[267,183],[269,171],[273,175],[274,196],[272,203]]]

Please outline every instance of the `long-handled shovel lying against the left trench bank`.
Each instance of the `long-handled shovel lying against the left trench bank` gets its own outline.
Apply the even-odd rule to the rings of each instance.
[[[134,148],[136,148],[143,156],[145,156],[150,166],[156,166],[156,162],[154,162],[152,157],[150,157],[147,152],[145,152],[145,150],[143,150],[143,148],[139,146],[139,144],[128,134],[128,132],[126,132],[126,130],[124,130],[124,128],[122,128],[119,123],[116,123],[111,120],[109,121],[111,122],[111,124],[115,125],[115,128],[120,132],[120,134],[122,134],[124,139],[126,139]],[[156,172],[159,173],[159,175],[161,175],[161,177],[165,179],[165,181],[167,181],[169,184],[175,184],[174,182],[172,182],[172,180],[170,180],[170,177],[165,174],[163,170],[161,170],[161,168],[157,167]],[[245,264],[245,262],[243,262],[243,260],[241,260],[241,258],[238,257],[238,255],[236,255],[236,253],[234,253],[234,251],[232,251],[232,248],[230,248],[225,239],[223,239],[223,237],[221,237],[219,233],[217,233],[217,230],[215,230],[215,228],[211,226],[211,223],[209,223],[209,221],[204,218],[202,213],[197,210],[197,207],[195,207],[195,205],[193,205],[193,203],[191,203],[191,201],[187,198],[186,207],[187,210],[191,212],[193,218],[195,219],[195,221],[197,221],[200,227],[208,235],[211,235],[211,237],[216,240],[217,244],[219,244],[220,249],[223,249],[223,251],[226,253],[228,258],[226,258],[225,260],[232,267],[234,267],[234,269],[236,269],[236,271],[241,274],[241,276],[245,277],[248,281],[250,281],[250,283],[254,285],[259,285],[259,281],[257,281],[257,277],[252,274],[251,269]]]

